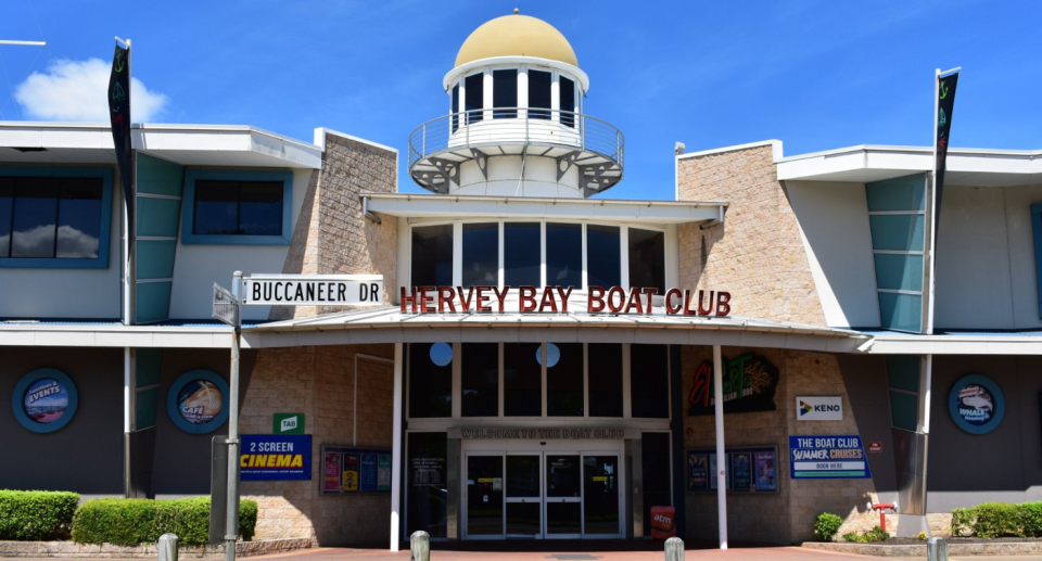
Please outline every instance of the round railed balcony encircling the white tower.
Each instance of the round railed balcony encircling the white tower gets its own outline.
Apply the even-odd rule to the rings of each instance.
[[[551,158],[557,181],[575,167],[582,195],[590,196],[622,179],[624,151],[622,131],[588,115],[482,109],[444,115],[417,127],[409,136],[409,175],[423,189],[449,193],[453,186],[460,186],[460,169],[470,162],[487,181],[490,158],[520,156],[522,178],[525,160]]]

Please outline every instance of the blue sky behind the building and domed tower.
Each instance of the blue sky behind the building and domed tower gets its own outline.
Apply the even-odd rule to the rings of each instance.
[[[692,152],[776,138],[786,155],[929,145],[938,67],[964,68],[953,146],[1042,149],[1038,1],[7,0],[0,38],[49,44],[0,46],[0,112],[40,118],[47,107],[33,104],[50,98],[20,90],[30,75],[46,86],[65,64],[79,72],[69,79],[86,76],[119,35],[134,40],[148,120],[305,141],[325,126],[404,153],[417,125],[446,112],[441,80],[462,41],[514,7],[568,37],[590,78],[586,112],[626,136],[625,179],[609,197],[671,199],[676,141]],[[404,167],[402,178],[420,192]]]

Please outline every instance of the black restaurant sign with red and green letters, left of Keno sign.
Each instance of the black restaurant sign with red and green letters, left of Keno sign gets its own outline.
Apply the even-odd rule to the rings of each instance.
[[[724,413],[774,411],[774,392],[778,387],[778,368],[766,358],[747,353],[724,360]],[[688,394],[689,417],[715,412],[713,362],[707,360],[695,369],[695,380]]]

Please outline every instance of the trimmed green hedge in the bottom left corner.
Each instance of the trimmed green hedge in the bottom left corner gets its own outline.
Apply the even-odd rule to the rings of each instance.
[[[0,490],[0,539],[68,537],[77,505],[79,495],[75,493]]]

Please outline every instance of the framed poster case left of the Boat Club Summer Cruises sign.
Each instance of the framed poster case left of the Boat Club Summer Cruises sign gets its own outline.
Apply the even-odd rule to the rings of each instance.
[[[724,485],[735,493],[777,493],[777,448],[727,448]],[[688,450],[687,490],[709,493],[717,489],[715,450]]]

